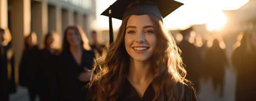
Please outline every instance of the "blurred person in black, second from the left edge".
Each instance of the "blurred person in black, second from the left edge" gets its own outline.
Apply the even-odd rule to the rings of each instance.
[[[39,81],[39,49],[37,35],[31,32],[25,37],[25,49],[20,62],[19,83],[28,88],[30,101],[34,101],[38,94]]]

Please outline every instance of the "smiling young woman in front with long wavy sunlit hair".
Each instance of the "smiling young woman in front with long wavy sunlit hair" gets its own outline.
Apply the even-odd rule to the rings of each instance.
[[[126,2],[117,0],[112,7],[123,6]],[[182,67],[179,48],[163,28],[156,4],[136,0],[125,7],[116,40],[107,55],[95,62],[94,70],[100,70],[91,80],[86,101],[197,100],[193,87],[184,78],[186,71]]]

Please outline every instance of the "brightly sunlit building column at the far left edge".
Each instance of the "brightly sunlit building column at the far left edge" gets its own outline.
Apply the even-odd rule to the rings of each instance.
[[[0,0],[0,28],[8,28],[8,2]]]

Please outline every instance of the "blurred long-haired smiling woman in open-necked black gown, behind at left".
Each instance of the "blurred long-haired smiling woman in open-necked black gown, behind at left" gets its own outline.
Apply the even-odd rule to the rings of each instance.
[[[88,70],[93,66],[94,57],[84,32],[74,26],[66,28],[62,53],[57,59],[60,101],[85,100],[88,89],[83,87],[90,80]]]

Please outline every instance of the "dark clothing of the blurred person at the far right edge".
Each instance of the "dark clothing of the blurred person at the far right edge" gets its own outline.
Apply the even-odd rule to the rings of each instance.
[[[236,101],[255,101],[256,53],[238,47],[233,53],[233,66],[237,71]]]

